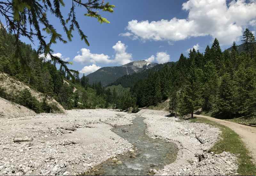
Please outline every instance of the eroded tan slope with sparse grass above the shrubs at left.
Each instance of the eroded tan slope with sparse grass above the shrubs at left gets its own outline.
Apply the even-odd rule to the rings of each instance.
[[[43,102],[43,93],[30,88],[29,86],[18,80],[13,79],[6,73],[0,73],[0,86],[4,88],[4,91],[6,93],[14,95],[17,95],[21,90],[27,88],[31,92],[32,96],[35,96],[39,102]],[[47,103],[56,106],[62,112],[66,112],[66,110],[60,105],[60,103],[58,103],[53,98],[48,98]]]

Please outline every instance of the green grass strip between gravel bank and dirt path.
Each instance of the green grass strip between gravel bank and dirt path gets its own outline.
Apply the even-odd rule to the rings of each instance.
[[[220,125],[216,122],[204,118],[190,119],[191,122],[206,123],[220,128],[220,140],[214,144],[210,151],[214,153],[222,153],[223,151],[233,153],[237,156],[238,169],[240,175],[255,175],[256,166],[252,163],[252,157],[249,155],[248,149],[240,136],[227,126]]]

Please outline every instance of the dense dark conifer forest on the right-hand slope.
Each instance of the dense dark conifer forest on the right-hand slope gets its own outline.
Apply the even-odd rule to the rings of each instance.
[[[256,114],[255,37],[244,31],[243,52],[236,43],[224,52],[217,39],[204,53],[190,50],[180,55],[177,64],[149,73],[131,89],[139,107],[156,105],[170,98],[170,111],[181,115],[204,111],[221,117]]]

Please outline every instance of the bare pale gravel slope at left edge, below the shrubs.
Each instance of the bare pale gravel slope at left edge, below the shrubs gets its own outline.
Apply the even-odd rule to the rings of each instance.
[[[15,118],[34,115],[36,115],[34,111],[0,97],[0,118]]]

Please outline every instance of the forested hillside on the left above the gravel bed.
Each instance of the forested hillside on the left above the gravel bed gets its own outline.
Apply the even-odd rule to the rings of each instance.
[[[2,98],[21,104],[37,113],[53,112],[54,108],[58,112],[58,108],[53,107],[47,101],[52,98],[66,110],[108,108],[118,104],[119,99],[124,99],[123,96],[105,90],[100,82],[90,86],[88,78],[83,75],[80,79],[78,72],[73,77],[69,76],[62,66],[59,67],[55,62],[47,61],[44,57],[38,57],[36,50],[24,42],[19,43],[21,53],[15,53],[16,38],[4,29],[0,30],[0,72],[7,73],[12,79],[25,83],[29,88],[43,95],[43,100],[38,101],[36,95],[31,93],[26,86],[15,94],[0,87]],[[26,61],[25,67],[21,66],[21,60]],[[127,97],[130,98],[130,96]],[[130,107],[130,104],[125,105],[125,107],[128,106]],[[124,105],[120,108],[122,107]]]

